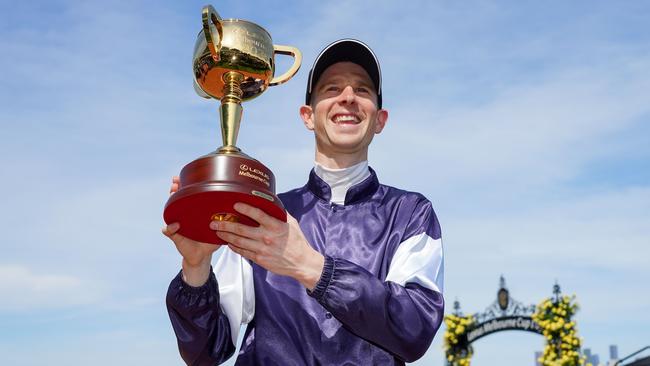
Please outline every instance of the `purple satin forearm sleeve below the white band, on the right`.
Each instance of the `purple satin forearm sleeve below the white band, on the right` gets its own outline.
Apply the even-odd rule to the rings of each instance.
[[[415,283],[382,282],[352,262],[329,256],[310,295],[346,329],[406,362],[427,351],[444,311],[438,292]]]

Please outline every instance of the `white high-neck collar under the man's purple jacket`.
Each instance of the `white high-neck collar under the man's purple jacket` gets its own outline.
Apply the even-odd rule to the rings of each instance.
[[[315,163],[314,173],[330,186],[332,191],[330,202],[337,205],[345,204],[345,195],[350,187],[370,176],[367,160],[343,169],[326,168]]]

